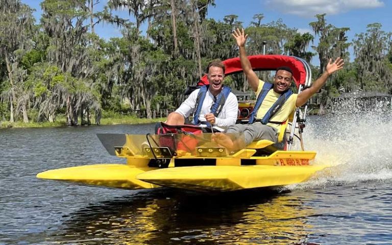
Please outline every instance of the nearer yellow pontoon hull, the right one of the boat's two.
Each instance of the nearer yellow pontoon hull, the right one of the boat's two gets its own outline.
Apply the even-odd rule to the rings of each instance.
[[[156,185],[196,191],[234,191],[301,183],[328,165],[190,166],[148,171],[136,178]]]

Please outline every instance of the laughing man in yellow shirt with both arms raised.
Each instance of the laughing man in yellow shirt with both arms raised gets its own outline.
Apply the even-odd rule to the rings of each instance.
[[[251,63],[247,57],[245,50],[245,43],[248,35],[244,34],[242,30],[235,30],[233,36],[237,42],[239,48],[239,58],[244,74],[248,79],[249,86],[256,92],[256,97],[263,97],[261,104],[257,108],[254,108],[255,115],[254,120],[251,119],[248,125],[234,125],[227,129],[227,133],[243,133],[244,139],[232,140],[230,137],[226,137],[223,134],[217,134],[214,139],[226,146],[229,149],[239,148],[241,146],[248,145],[254,140],[267,139],[275,143],[278,142],[278,135],[282,123],[285,122],[288,116],[297,108],[306,103],[306,101],[326,83],[328,77],[341,69],[344,65],[344,61],[341,58],[337,58],[331,63],[329,60],[324,74],[318,78],[310,88],[305,89],[300,94],[292,94],[290,89],[292,81],[292,71],[289,67],[279,67],[276,70],[274,77],[274,84],[271,85],[271,89],[263,89],[264,82],[259,80],[256,73],[252,70]],[[263,96],[259,96],[260,93],[264,93]],[[276,101],[285,96],[284,100],[281,100],[281,104],[278,105]],[[257,105],[256,101],[256,105]],[[275,111],[271,113],[271,111]],[[268,114],[269,115],[266,115]],[[237,142],[244,141],[244,142]]]

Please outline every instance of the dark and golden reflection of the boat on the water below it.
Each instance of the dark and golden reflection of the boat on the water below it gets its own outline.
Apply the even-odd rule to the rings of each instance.
[[[287,244],[306,239],[309,215],[313,215],[311,207],[284,193],[202,195],[164,189],[71,213],[64,233],[50,240],[61,244]]]

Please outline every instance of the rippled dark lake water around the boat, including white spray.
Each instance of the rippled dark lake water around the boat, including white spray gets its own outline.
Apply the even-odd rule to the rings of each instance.
[[[280,191],[131,191],[35,177],[124,162],[96,133],[152,131],[1,130],[0,244],[392,244],[392,123],[377,115],[309,117],[306,149],[317,151],[316,164],[336,166]]]

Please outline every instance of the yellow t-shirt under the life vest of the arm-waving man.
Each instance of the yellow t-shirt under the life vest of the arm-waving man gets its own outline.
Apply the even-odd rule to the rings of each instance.
[[[257,91],[256,91],[256,97],[259,96],[259,93],[261,92],[263,85],[264,85],[264,82],[259,80],[259,87],[257,88]],[[261,106],[259,107],[259,110],[257,111],[256,119],[262,119],[264,117],[265,113],[267,113],[267,111],[278,100],[280,95],[281,94],[275,92],[274,89],[269,90],[263,100],[263,103],[261,103]],[[282,108],[280,108],[278,110],[278,112],[275,113],[274,116],[269,118],[269,120],[270,121],[286,121],[288,116],[297,108],[296,107],[297,96],[298,96],[297,93],[291,94],[291,96],[288,97],[288,100],[283,104]],[[278,130],[278,134],[279,134],[280,127],[281,127],[280,124],[268,123],[267,125],[276,128]]]

